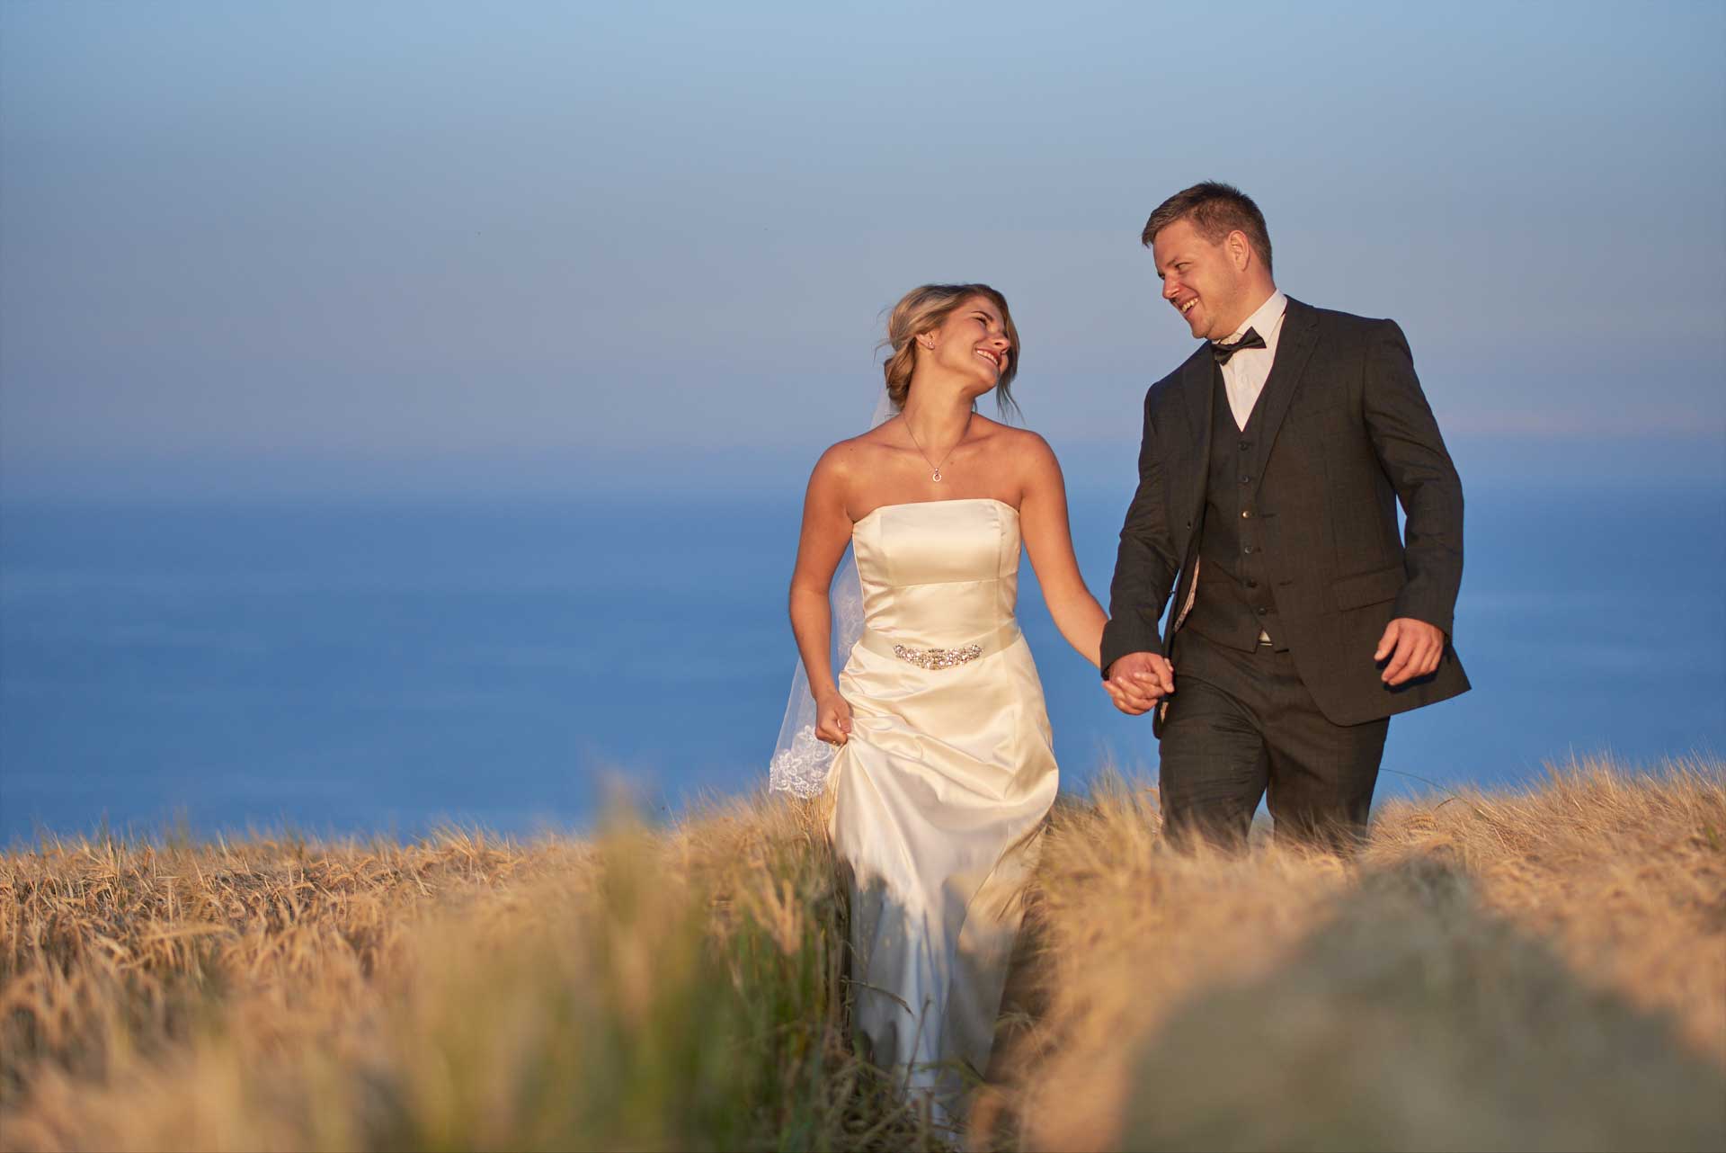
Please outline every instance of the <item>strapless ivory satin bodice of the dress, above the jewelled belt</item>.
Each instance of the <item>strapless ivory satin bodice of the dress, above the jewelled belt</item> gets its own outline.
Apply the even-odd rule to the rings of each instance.
[[[1013,623],[1018,509],[992,497],[884,504],[851,530],[865,625],[954,646]]]

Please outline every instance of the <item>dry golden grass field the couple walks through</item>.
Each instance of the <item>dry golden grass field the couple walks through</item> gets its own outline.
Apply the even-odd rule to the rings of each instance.
[[[1345,865],[1046,837],[970,1134],[1001,1148],[1726,1146],[1717,761],[1388,804]],[[0,858],[0,1148],[939,1148],[842,1037],[815,813],[590,842]]]

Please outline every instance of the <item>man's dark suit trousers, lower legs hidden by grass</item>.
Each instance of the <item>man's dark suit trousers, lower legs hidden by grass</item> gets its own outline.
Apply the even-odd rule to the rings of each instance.
[[[1351,853],[1367,835],[1389,718],[1338,725],[1294,658],[1182,628],[1162,723],[1163,830],[1175,847],[1241,847],[1269,792],[1277,841]]]

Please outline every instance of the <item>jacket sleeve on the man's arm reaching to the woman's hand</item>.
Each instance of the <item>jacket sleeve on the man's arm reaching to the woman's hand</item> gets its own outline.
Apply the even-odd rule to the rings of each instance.
[[[1169,604],[1179,559],[1169,535],[1163,463],[1156,452],[1151,397],[1144,397],[1144,438],[1139,442],[1139,487],[1120,526],[1115,578],[1108,587],[1108,625],[1103,627],[1103,675],[1129,652],[1162,652],[1156,621]]]

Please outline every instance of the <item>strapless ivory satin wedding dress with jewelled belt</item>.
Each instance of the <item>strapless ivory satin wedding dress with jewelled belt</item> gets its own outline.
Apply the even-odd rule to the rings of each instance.
[[[828,832],[851,873],[854,1027],[937,1117],[989,1063],[1055,801],[1043,684],[1018,632],[1018,511],[889,504],[853,528],[863,637]]]

